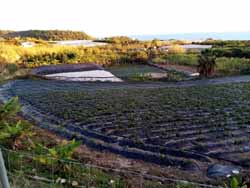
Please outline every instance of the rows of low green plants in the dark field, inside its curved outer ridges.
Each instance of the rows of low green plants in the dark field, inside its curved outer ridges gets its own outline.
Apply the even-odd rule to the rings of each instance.
[[[243,160],[241,154],[249,155],[244,150],[250,141],[248,83],[127,89],[53,83],[20,81],[10,91],[37,111],[65,122],[68,131],[85,136],[91,132],[88,136],[104,142],[169,155],[169,149],[210,157],[237,155],[238,161]]]

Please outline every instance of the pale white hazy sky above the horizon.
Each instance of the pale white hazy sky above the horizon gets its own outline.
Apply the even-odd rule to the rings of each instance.
[[[93,36],[250,31],[250,0],[1,0],[0,29]]]

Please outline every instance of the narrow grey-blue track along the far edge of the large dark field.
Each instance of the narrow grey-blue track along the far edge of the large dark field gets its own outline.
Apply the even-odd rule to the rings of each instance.
[[[8,85],[22,85],[29,90],[38,89],[38,86],[43,87],[46,90],[64,90],[64,88],[74,88],[84,90],[96,90],[96,89],[122,89],[122,88],[165,88],[165,87],[191,87],[191,86],[203,86],[203,85],[216,85],[216,84],[233,84],[250,82],[250,76],[233,76],[223,77],[214,79],[203,79],[203,80],[190,80],[181,82],[123,82],[123,83],[112,83],[112,82],[65,82],[56,80],[16,80],[10,81]],[[30,87],[30,83],[37,85],[36,88]],[[49,83],[49,84],[48,84]],[[46,87],[47,86],[47,87]],[[51,87],[53,86],[53,87]],[[62,87],[63,86],[63,87]]]

